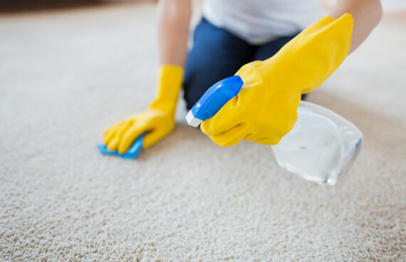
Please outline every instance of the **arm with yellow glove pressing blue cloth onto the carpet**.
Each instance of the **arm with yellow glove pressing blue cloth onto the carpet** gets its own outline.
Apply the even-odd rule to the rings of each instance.
[[[160,70],[157,95],[147,110],[112,125],[104,134],[108,150],[127,152],[142,133],[147,148],[170,134],[175,127],[177,96],[182,86],[191,0],[161,0],[158,6]]]

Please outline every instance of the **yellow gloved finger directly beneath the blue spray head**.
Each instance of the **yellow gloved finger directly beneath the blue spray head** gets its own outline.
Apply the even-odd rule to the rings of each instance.
[[[204,120],[200,130],[205,135],[215,136],[227,132],[241,124],[238,117],[238,110],[235,109],[237,98],[232,98],[224,105],[214,117]]]

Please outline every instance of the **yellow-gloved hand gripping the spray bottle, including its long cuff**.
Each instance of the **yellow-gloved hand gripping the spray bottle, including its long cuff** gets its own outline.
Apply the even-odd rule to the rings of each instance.
[[[296,122],[301,94],[321,85],[348,55],[352,31],[350,14],[324,17],[275,56],[242,66],[236,73],[244,81],[239,94],[202,122],[202,132],[221,146],[242,139],[279,143]]]

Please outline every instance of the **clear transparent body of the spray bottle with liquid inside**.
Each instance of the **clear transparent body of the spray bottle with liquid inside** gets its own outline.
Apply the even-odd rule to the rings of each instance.
[[[351,122],[302,101],[295,126],[272,150],[279,165],[289,172],[334,185],[353,165],[362,142],[362,133]]]

